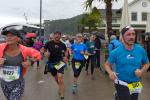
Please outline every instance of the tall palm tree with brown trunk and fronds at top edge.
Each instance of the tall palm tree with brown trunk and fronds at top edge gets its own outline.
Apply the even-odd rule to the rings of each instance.
[[[91,8],[92,3],[94,1],[103,1],[106,4],[106,24],[107,24],[107,34],[108,37],[110,37],[110,32],[112,32],[112,1],[118,1],[118,0],[86,0],[85,1],[85,7]]]

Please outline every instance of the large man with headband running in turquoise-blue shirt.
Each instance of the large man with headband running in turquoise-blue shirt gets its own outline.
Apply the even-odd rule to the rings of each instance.
[[[149,67],[148,57],[145,50],[134,43],[134,28],[127,26],[121,34],[123,43],[110,53],[105,69],[115,83],[119,100],[138,100],[142,90],[140,79]],[[112,70],[113,64],[116,72]]]

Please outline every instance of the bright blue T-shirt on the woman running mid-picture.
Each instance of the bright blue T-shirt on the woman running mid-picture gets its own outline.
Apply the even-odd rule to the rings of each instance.
[[[84,55],[81,54],[81,51],[87,51],[87,46],[84,43],[75,43],[71,46],[73,51],[73,59],[84,60]]]

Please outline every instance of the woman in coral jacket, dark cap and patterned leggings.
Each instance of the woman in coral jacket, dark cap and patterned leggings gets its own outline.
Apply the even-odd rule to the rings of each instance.
[[[1,88],[7,100],[21,100],[24,92],[24,75],[29,62],[27,57],[40,60],[37,50],[25,47],[18,42],[20,33],[15,29],[5,30],[6,43],[0,44],[0,78]]]

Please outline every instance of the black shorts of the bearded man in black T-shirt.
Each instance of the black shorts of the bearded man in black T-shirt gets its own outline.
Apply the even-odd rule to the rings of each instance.
[[[59,70],[57,70],[57,69],[54,67],[55,64],[56,64],[56,63],[48,63],[48,68],[49,68],[49,71],[51,72],[51,74],[52,74],[53,76],[56,76],[57,73],[64,74],[64,68],[65,68],[66,66],[64,66],[64,67],[60,68]]]

